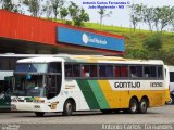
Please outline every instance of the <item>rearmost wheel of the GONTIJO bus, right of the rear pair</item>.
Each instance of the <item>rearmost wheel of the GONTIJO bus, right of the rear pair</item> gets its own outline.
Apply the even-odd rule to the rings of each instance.
[[[148,104],[149,104],[149,102],[147,99],[144,98],[140,100],[140,103],[139,103],[139,113],[140,114],[145,114],[147,112]]]

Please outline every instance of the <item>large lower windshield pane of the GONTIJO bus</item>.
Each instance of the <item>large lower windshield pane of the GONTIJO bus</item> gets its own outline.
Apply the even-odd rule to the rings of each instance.
[[[44,75],[15,75],[15,95],[46,96]]]

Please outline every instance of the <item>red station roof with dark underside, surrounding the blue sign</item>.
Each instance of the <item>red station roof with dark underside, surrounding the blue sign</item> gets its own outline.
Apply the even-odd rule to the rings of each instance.
[[[57,41],[57,27],[70,28],[124,40],[121,35],[89,28],[70,26],[62,23],[36,18],[27,15],[0,10],[0,52],[14,53],[76,53],[120,55],[122,51],[66,44]],[[115,44],[116,46],[116,44]]]

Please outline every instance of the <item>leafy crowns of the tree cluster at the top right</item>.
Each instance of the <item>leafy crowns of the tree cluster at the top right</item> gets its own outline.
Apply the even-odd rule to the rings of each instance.
[[[148,8],[144,4],[133,4],[130,9],[130,22],[134,26],[134,31],[140,22],[148,24],[149,30],[152,31],[154,26],[157,31],[160,30],[161,32],[166,26],[171,26],[174,23],[174,6]]]

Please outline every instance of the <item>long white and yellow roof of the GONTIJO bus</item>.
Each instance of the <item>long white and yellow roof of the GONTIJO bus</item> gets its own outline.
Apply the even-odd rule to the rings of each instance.
[[[103,55],[50,55],[18,60],[17,63],[49,63],[49,62],[73,62],[73,63],[119,63],[119,64],[163,64],[160,60],[129,60],[117,56]]]

